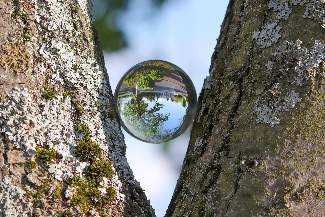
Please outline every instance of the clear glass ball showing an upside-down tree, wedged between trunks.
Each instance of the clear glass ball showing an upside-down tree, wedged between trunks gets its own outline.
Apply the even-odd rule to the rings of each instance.
[[[197,96],[178,66],[149,60],[129,69],[118,83],[114,101],[121,125],[131,136],[150,143],[167,142],[192,123]]]

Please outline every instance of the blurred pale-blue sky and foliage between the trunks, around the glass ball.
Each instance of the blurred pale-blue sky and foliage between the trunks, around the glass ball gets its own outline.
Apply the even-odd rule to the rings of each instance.
[[[199,96],[228,1],[93,0],[96,29],[114,93],[123,74],[145,60],[182,68]],[[188,146],[189,131],[163,144],[141,142],[123,131],[126,158],[157,217],[172,198]]]

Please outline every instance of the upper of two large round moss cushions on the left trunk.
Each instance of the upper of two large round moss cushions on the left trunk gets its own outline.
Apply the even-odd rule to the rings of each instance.
[[[78,157],[86,160],[87,158],[100,157],[102,150],[96,142],[92,142],[89,137],[84,137],[79,141],[78,146],[74,149]]]

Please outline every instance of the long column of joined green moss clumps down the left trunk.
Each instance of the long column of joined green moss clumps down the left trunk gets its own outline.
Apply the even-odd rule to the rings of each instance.
[[[90,128],[87,124],[78,123],[76,130],[78,130],[78,133],[84,132],[84,137],[75,148],[76,154],[85,161],[90,160],[91,163],[85,172],[85,180],[82,180],[80,176],[75,176],[70,180],[70,186],[75,188],[76,191],[68,200],[68,204],[70,206],[79,206],[85,213],[95,208],[100,216],[107,216],[104,214],[103,208],[114,200],[116,192],[113,187],[99,185],[99,181],[102,177],[107,179],[112,177],[114,174],[111,166],[112,162],[103,160],[100,146],[91,141]]]

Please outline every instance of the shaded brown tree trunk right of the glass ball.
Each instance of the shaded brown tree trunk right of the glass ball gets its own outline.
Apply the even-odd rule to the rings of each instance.
[[[325,1],[230,0],[165,216],[324,216]]]

